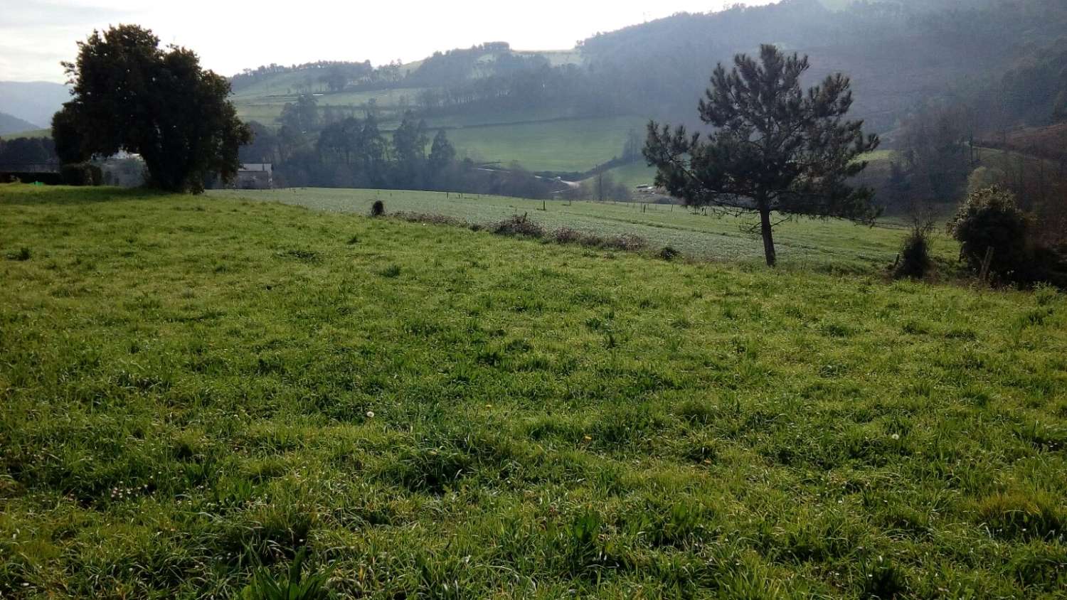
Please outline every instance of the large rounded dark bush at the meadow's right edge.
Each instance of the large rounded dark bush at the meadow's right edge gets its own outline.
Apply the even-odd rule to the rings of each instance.
[[[1015,202],[1015,195],[998,185],[972,192],[949,223],[949,232],[959,241],[960,256],[981,271],[992,248],[989,273],[1016,280],[1028,260],[1030,218]]]

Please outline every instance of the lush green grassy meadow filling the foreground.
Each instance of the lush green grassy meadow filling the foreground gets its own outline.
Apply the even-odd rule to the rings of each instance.
[[[4,598],[1067,586],[1048,290],[26,185],[0,280]]]

